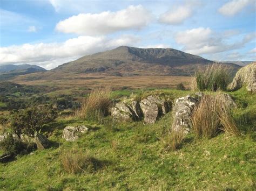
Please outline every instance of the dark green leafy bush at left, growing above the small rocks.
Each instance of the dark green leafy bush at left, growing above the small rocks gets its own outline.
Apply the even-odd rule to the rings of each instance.
[[[25,133],[33,136],[40,132],[42,126],[52,122],[57,117],[57,111],[50,105],[38,105],[24,110],[14,111],[10,116],[10,127],[17,135]]]

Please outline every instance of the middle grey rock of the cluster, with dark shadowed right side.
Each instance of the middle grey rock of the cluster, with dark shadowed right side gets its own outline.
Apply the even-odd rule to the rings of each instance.
[[[156,96],[149,96],[140,101],[140,108],[144,114],[144,123],[155,123],[157,119],[171,110],[171,102],[160,100]]]

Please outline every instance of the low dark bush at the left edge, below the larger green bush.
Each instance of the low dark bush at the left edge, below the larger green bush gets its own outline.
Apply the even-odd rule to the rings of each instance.
[[[12,135],[8,135],[6,139],[0,142],[0,147],[6,153],[14,155],[27,154],[36,149],[35,144],[24,143],[21,139],[12,137]]]

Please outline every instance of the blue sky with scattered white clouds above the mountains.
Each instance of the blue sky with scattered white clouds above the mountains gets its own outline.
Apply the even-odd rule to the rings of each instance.
[[[122,45],[256,60],[256,1],[0,0],[0,65],[51,69]]]

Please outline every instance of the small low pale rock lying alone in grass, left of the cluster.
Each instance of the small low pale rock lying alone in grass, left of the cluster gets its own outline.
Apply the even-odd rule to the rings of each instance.
[[[66,126],[62,133],[62,138],[73,142],[78,139],[80,133],[85,133],[88,131],[88,128],[85,125],[78,126]]]

